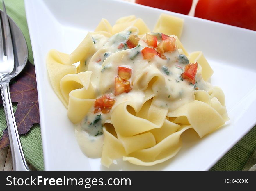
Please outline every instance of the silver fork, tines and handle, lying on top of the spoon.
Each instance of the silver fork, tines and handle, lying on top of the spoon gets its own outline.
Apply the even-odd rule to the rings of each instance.
[[[1,25],[3,26],[3,30]],[[10,97],[9,86],[10,80],[17,74],[19,74],[21,70],[15,67],[10,26],[6,14],[5,5],[3,2],[3,14],[1,15],[0,19],[0,87],[10,139],[13,170],[29,170],[19,139],[19,133],[13,113],[13,105]]]

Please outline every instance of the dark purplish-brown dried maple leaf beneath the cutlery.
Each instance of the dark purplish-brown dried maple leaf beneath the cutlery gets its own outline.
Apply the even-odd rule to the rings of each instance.
[[[19,135],[25,135],[34,123],[40,123],[35,67],[31,63],[27,63],[22,73],[14,80],[10,84],[12,102],[18,102],[14,116]],[[3,104],[2,99],[0,99],[0,104]],[[9,144],[6,128],[0,140],[0,150]]]

